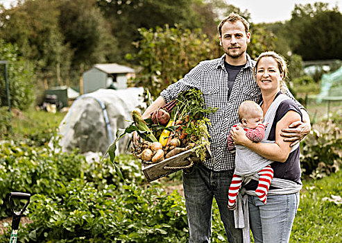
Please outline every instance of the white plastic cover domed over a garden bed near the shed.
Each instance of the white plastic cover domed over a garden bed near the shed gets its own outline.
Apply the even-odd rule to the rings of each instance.
[[[145,106],[143,92],[142,87],[100,89],[78,97],[59,126],[62,151],[78,148],[80,153],[92,151],[104,154],[115,140],[117,130],[126,128],[132,121],[132,110]],[[127,152],[129,140],[130,135],[119,140],[117,154]]]

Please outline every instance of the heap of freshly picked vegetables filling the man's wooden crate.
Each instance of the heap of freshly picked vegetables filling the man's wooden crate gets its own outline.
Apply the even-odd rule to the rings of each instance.
[[[157,109],[151,114],[152,119],[144,120],[137,110],[133,110],[132,124],[117,131],[117,138],[106,153],[109,153],[110,161],[114,163],[116,142],[123,135],[137,131],[143,142],[132,143],[135,158],[145,162],[160,162],[164,158],[194,149],[200,160],[205,160],[205,146],[210,145],[208,140],[203,139],[209,137],[207,126],[210,126],[205,115],[215,111],[216,108],[205,108],[202,92],[195,88],[181,92],[177,99]],[[155,137],[158,131],[162,131],[162,135]],[[120,174],[117,165],[115,167]]]

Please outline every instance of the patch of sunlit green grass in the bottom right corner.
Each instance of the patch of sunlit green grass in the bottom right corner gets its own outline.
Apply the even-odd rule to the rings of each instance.
[[[293,223],[290,242],[341,242],[342,171],[320,180],[305,181],[300,192],[300,206]]]

